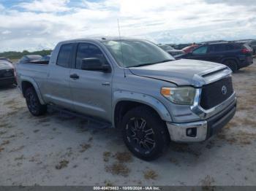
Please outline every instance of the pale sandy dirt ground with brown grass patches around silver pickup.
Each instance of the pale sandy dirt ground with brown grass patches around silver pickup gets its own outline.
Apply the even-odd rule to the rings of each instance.
[[[32,117],[15,87],[1,88],[0,185],[256,185],[256,65],[233,82],[233,120],[153,162],[133,157],[117,130],[56,112]]]

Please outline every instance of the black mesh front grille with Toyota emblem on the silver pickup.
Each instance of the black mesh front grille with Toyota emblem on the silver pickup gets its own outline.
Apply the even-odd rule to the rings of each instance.
[[[226,87],[226,93],[225,93]],[[223,90],[224,89],[224,90]],[[217,82],[213,82],[208,85],[204,85],[202,88],[200,106],[203,109],[211,109],[214,106],[221,104],[230,95],[233,94],[232,78],[227,77],[220,79]]]

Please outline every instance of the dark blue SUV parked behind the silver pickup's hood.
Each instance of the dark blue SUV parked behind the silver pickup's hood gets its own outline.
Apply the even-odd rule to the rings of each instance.
[[[244,44],[236,42],[219,42],[203,44],[190,53],[178,58],[223,63],[232,71],[237,71],[253,63],[252,51]]]

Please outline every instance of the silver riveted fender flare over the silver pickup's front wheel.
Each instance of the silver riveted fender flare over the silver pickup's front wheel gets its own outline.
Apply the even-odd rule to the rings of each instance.
[[[119,101],[135,101],[140,104],[151,106],[151,108],[153,108],[159,114],[162,120],[167,122],[172,121],[170,117],[170,113],[167,111],[165,106],[156,98],[152,97],[151,95],[146,95],[143,93],[135,93],[131,91],[118,90],[113,93],[113,107],[112,107],[113,122],[115,121],[116,104],[118,104]]]

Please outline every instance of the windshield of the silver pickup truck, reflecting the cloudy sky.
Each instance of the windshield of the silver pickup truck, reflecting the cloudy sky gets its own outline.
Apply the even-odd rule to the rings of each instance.
[[[119,66],[126,68],[173,61],[171,55],[144,40],[114,40],[103,42]]]

